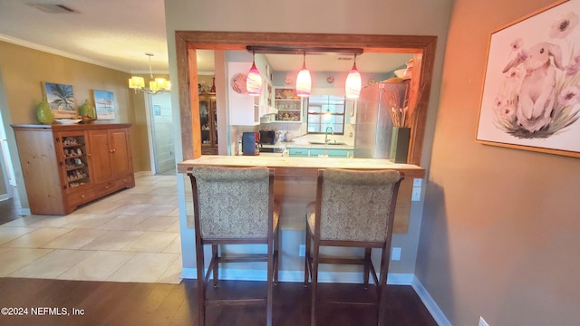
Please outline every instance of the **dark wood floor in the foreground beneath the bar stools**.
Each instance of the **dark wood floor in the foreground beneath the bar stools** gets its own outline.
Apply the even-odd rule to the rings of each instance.
[[[210,295],[262,295],[266,283],[220,281]],[[357,284],[324,283],[328,299],[364,297],[369,290]],[[274,325],[301,326],[310,321],[309,288],[302,283],[279,283],[274,292]],[[28,315],[0,315],[0,325],[196,325],[195,280],[180,284],[110,283],[0,278],[0,308],[27,308]],[[436,326],[411,286],[390,285],[387,321],[391,326]],[[66,309],[65,315],[50,315]],[[45,315],[32,316],[35,312]],[[76,311],[73,311],[76,309]],[[58,311],[57,311],[58,310]],[[77,315],[73,315],[77,312]],[[80,312],[83,314],[81,315]],[[372,307],[324,305],[321,326],[376,325]],[[70,315],[66,315],[70,314]],[[265,325],[264,307],[229,306],[207,310],[208,326]]]

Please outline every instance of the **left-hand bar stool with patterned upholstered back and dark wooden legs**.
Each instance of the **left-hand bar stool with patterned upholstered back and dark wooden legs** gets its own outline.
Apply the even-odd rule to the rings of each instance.
[[[193,192],[198,268],[198,325],[205,325],[206,306],[266,304],[266,325],[272,325],[273,283],[278,279],[278,218],[274,203],[274,169],[195,167],[189,171]],[[267,254],[222,255],[218,245],[266,244]],[[211,245],[207,273],[204,245]],[[266,297],[208,299],[206,289],[213,272],[218,286],[220,263],[267,262]]]

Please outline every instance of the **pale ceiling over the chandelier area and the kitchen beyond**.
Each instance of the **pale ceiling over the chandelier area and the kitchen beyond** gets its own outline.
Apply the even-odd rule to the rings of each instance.
[[[169,71],[163,0],[0,0],[0,41],[130,73],[149,72],[145,53],[153,53],[153,72]],[[299,70],[304,59],[301,54],[266,58],[273,71],[285,72]],[[362,53],[356,65],[361,72],[391,72],[409,59],[411,54]],[[347,72],[353,55],[309,54],[306,66],[313,72]],[[198,70],[214,71],[212,51],[198,51]]]

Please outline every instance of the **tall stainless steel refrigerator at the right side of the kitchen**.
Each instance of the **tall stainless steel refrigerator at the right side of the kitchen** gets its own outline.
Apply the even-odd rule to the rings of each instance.
[[[354,158],[389,158],[392,120],[389,98],[397,92],[399,105],[404,101],[408,84],[377,82],[361,90],[356,107]]]

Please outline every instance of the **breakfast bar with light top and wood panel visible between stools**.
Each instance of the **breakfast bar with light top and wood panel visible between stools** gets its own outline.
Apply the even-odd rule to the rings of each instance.
[[[268,167],[275,169],[275,200],[282,205],[280,226],[283,229],[304,230],[304,212],[315,200],[316,177],[320,168],[358,170],[394,169],[402,172],[393,232],[406,233],[411,211],[413,178],[425,177],[425,169],[411,164],[395,164],[375,158],[289,158],[260,156],[201,156],[178,164],[178,172],[186,174],[196,166]],[[188,225],[193,225],[188,215]]]

